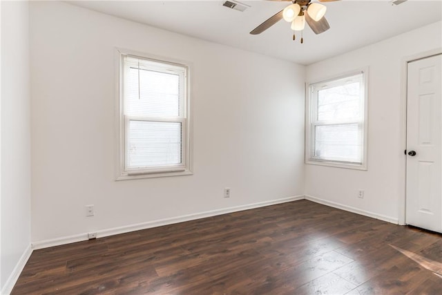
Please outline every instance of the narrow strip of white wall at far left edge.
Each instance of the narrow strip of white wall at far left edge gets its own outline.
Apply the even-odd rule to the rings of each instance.
[[[30,251],[30,82],[27,2],[1,3],[1,276],[7,293]]]

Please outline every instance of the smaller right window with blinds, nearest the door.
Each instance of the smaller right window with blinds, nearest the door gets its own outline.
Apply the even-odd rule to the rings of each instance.
[[[306,162],[366,169],[365,72],[309,85]]]

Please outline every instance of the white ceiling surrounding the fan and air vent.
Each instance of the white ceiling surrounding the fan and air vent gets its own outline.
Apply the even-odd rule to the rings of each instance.
[[[292,40],[284,20],[250,35],[260,23],[285,8],[289,2],[241,1],[251,6],[244,12],[209,1],[69,1],[89,8],[163,28],[184,35],[242,48],[298,64],[311,64],[442,19],[442,0],[408,0],[398,6],[390,1],[343,0],[324,3],[331,26],[315,35],[305,28],[304,44]],[[412,42],[412,40],[410,40]]]

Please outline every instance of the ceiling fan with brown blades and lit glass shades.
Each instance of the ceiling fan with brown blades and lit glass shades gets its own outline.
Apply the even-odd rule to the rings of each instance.
[[[304,42],[302,38],[302,30],[305,28],[305,23],[309,25],[311,30],[316,34],[325,32],[330,28],[330,25],[325,19],[325,11],[327,7],[321,3],[311,2],[311,0],[271,0],[271,1],[291,1],[292,3],[281,10],[280,12],[273,15],[267,19],[267,21],[261,23],[255,29],[253,29],[250,34],[258,35],[275,23],[284,19],[285,21],[291,22],[291,30],[294,30],[293,39],[296,39],[295,32],[301,32],[301,43]],[[338,0],[319,0],[320,2],[332,2]]]

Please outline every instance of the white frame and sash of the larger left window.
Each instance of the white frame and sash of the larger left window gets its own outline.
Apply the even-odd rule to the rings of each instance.
[[[154,61],[171,67],[184,68],[184,89],[182,91],[183,104],[182,112],[179,117],[139,117],[124,114],[124,57],[136,57]],[[166,176],[191,175],[192,149],[191,149],[191,97],[190,97],[190,70],[191,64],[187,61],[171,59],[168,57],[159,57],[146,53],[139,53],[133,50],[115,48],[115,180],[131,180],[138,178],[159,178]],[[181,97],[180,97],[181,99]],[[182,125],[182,159],[180,164],[154,166],[152,168],[126,169],[126,151],[128,140],[128,122],[180,122]]]

